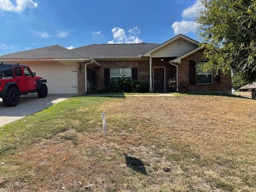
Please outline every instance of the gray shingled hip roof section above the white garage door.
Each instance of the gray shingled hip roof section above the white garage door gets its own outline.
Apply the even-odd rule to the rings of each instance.
[[[59,45],[53,45],[0,56],[1,60],[33,58],[84,58],[84,56]]]

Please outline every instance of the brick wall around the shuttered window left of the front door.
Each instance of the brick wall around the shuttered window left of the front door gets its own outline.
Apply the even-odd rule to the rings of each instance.
[[[104,88],[104,68],[138,68],[138,80],[149,82],[149,60],[97,61],[101,67],[95,68],[96,87]]]

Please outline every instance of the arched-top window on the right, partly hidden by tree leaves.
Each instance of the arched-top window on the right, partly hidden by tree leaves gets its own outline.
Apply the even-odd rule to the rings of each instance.
[[[212,84],[212,70],[204,72],[202,66],[207,60],[199,61],[196,65],[196,84]]]

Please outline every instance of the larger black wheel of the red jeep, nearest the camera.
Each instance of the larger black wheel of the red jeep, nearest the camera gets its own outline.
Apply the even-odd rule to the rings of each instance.
[[[7,107],[14,107],[18,105],[20,101],[20,92],[17,88],[12,87],[8,90],[6,96],[2,99],[3,103]]]

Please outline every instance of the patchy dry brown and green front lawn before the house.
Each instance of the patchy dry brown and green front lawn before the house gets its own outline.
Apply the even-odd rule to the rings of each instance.
[[[88,107],[88,99],[64,102],[83,103],[52,120],[73,125],[64,132],[0,156],[0,192],[256,191],[256,100],[102,97]]]

